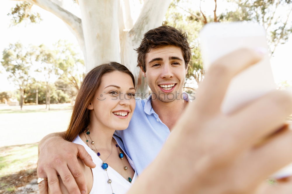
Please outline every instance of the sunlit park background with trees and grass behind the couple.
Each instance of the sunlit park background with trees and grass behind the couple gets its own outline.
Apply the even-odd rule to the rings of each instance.
[[[205,73],[200,29],[209,22],[258,22],[267,31],[278,89],[291,87],[291,11],[291,0],[1,1],[0,193],[38,193],[37,142],[66,130],[88,70],[117,61],[143,78],[133,49],[149,29],[187,32],[194,48],[184,90],[191,92]],[[139,80],[138,91],[147,92]]]

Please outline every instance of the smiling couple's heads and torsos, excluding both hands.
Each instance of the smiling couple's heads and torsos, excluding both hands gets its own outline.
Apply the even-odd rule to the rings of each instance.
[[[188,104],[183,93],[191,57],[187,35],[174,27],[158,27],[145,33],[137,52],[152,91],[148,99],[135,100],[134,77],[116,62],[93,68],[76,97],[65,140],[84,146],[96,165],[90,169],[78,159],[88,193],[126,193],[157,156]],[[72,193],[65,180],[59,182],[62,193]]]

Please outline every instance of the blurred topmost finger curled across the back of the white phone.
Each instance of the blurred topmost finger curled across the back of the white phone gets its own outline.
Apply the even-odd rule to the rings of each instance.
[[[232,78],[259,62],[263,54],[242,48],[216,60],[207,70],[197,91],[195,103],[201,113],[213,114],[220,111],[227,87]]]

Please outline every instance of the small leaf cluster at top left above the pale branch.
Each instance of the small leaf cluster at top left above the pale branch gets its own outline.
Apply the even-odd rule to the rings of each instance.
[[[8,13],[8,16],[11,16],[11,24],[17,25],[23,21],[30,23],[39,23],[41,22],[41,16],[39,13],[34,13],[31,11],[33,4],[28,2],[17,3],[14,8],[11,8],[11,12]]]

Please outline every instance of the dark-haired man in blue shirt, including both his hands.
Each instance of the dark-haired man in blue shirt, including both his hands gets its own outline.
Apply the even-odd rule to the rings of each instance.
[[[186,35],[167,26],[148,31],[137,49],[138,66],[152,95],[137,101],[129,128],[118,135],[139,174],[154,161],[129,192],[251,193],[261,180],[292,160],[286,154],[292,145],[291,132],[270,136],[292,112],[291,96],[272,92],[232,115],[223,115],[220,104],[232,77],[262,57],[256,51],[239,50],[216,61],[197,99],[183,113],[187,98],[178,94],[182,94],[189,49]],[[255,120],[258,115],[264,119]],[[269,141],[258,146],[266,136]],[[267,150],[277,153],[270,163],[264,162]],[[95,166],[83,147],[54,135],[47,137],[40,145],[38,177],[48,177],[54,193],[60,193],[57,173],[70,193],[86,193],[76,156]],[[39,184],[40,193],[46,193],[46,184]],[[267,192],[262,189],[262,193]]]

